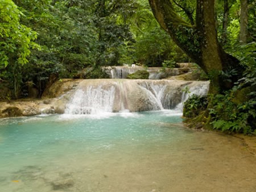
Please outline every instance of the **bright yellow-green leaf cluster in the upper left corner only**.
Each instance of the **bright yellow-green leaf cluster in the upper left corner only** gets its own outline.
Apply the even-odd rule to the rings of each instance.
[[[24,65],[28,62],[30,48],[39,48],[34,43],[36,32],[20,24],[23,13],[11,0],[2,0],[0,4],[0,53],[1,65]]]

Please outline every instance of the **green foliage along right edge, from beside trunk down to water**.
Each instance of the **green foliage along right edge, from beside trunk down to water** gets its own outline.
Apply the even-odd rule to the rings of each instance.
[[[222,131],[256,134],[256,43],[236,44],[228,51],[246,67],[243,77],[232,90],[215,95],[210,108],[213,128]],[[244,91],[245,90],[245,91]]]

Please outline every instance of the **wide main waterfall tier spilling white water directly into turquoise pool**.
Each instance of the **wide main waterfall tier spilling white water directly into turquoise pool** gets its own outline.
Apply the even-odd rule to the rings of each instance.
[[[123,110],[173,109],[191,93],[207,94],[209,82],[173,80],[82,80],[69,99],[66,114],[99,114]]]

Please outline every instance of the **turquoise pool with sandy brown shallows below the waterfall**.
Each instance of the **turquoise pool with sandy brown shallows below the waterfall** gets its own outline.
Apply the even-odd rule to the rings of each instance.
[[[164,110],[0,120],[0,191],[256,191],[240,139]]]

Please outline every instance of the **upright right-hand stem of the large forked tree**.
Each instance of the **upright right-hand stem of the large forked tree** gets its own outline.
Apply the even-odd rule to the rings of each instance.
[[[203,35],[201,44],[202,64],[210,77],[210,92],[220,91],[219,72],[222,70],[222,49],[215,27],[214,1],[197,1],[196,28]]]

